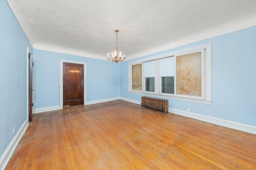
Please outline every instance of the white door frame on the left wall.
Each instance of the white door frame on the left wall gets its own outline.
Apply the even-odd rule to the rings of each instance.
[[[34,56],[30,49],[27,47],[27,119],[29,122],[29,54],[32,57],[32,63],[34,62]],[[32,66],[32,103],[34,103],[34,67]],[[34,113],[34,106],[32,105],[32,115]]]

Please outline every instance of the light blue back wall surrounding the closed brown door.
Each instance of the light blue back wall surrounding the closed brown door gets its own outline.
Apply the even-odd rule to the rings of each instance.
[[[39,49],[33,54],[34,109],[60,105],[60,59],[86,62],[87,101],[120,97],[120,64]]]

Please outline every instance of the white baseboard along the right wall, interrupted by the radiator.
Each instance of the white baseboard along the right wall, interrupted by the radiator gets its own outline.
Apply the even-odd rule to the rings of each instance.
[[[138,105],[140,105],[140,103],[141,103],[141,101],[128,99],[128,98],[124,98],[124,97],[120,97],[120,99],[124,100],[124,101],[131,102],[131,103],[135,103],[135,104],[138,104]],[[190,117],[190,118],[197,119],[197,120],[204,121],[204,122],[213,123],[213,124],[220,125],[220,126],[223,126],[223,127],[233,128],[233,129],[236,129],[236,130],[241,130],[241,131],[244,131],[244,132],[256,134],[256,127],[255,126],[246,125],[246,124],[237,123],[237,122],[232,122],[232,121],[228,121],[228,120],[224,120],[224,119],[219,119],[219,118],[216,118],[216,117],[200,115],[200,114],[197,114],[197,113],[191,113],[191,112],[182,111],[182,110],[178,110],[178,109],[172,109],[172,108],[169,108],[169,112],[174,113],[176,115]]]

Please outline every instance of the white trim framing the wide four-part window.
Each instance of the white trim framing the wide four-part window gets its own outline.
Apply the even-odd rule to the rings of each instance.
[[[204,103],[204,104],[211,104],[212,101],[212,43],[206,43],[206,44],[202,44],[202,45],[198,45],[198,46],[194,46],[194,47],[190,47],[190,48],[186,48],[186,49],[182,49],[182,50],[178,50],[178,51],[172,51],[170,53],[165,53],[165,54],[161,54],[161,55],[156,55],[153,57],[148,57],[145,59],[140,59],[137,61],[132,61],[129,62],[129,93],[135,93],[135,94],[141,94],[141,95],[152,95],[152,96],[156,96],[156,97],[164,97],[164,98],[169,98],[169,99],[178,99],[178,100],[183,100],[183,101],[192,101],[192,102],[197,102],[197,103]],[[172,95],[172,94],[166,94],[166,93],[159,93],[160,88],[156,88],[159,87],[155,85],[155,93],[152,92],[145,92],[144,88],[142,88],[142,91],[135,91],[132,90],[131,84],[132,84],[132,76],[131,76],[131,71],[132,71],[132,65],[136,65],[136,64],[140,64],[142,63],[142,86],[144,86],[144,75],[143,75],[143,62],[146,61],[150,61],[150,60],[156,60],[156,59],[160,59],[160,58],[164,58],[164,57],[170,57],[170,56],[176,56],[176,55],[182,55],[184,53],[193,53],[194,51],[199,51],[199,50],[204,50],[206,49],[206,53],[204,53],[205,55],[205,59],[204,59],[204,66],[206,67],[206,69],[204,69],[204,80],[202,78],[202,81],[204,81],[204,83],[206,83],[206,85],[204,86],[205,89],[202,91],[202,98],[204,99],[195,99],[195,98],[187,98],[186,96],[177,96],[177,95]],[[174,57],[175,59],[176,57]],[[176,59],[174,61],[175,64],[175,68],[176,68]],[[157,67],[157,64],[156,64]],[[158,68],[159,68],[159,64],[158,64]],[[156,70],[159,70],[156,68]],[[202,69],[203,70],[203,69]],[[176,76],[176,69],[174,69],[175,73],[174,76]],[[158,71],[159,72],[159,71]],[[159,77],[159,73],[158,73],[158,77]],[[174,81],[175,78],[174,78]],[[155,79],[155,82],[156,79]],[[158,81],[158,83],[160,83],[160,81]],[[176,83],[176,82],[175,82]],[[174,84],[175,84],[174,83]],[[174,88],[174,90],[176,90],[176,88]],[[158,92],[158,93],[156,93]],[[204,96],[203,96],[204,93]]]

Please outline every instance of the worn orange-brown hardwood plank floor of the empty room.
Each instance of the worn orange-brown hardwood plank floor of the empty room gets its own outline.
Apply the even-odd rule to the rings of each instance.
[[[256,135],[126,101],[33,115],[6,170],[256,169]]]

